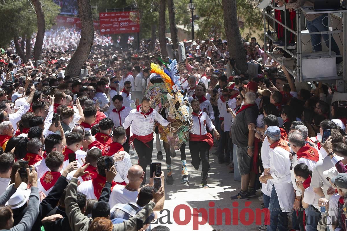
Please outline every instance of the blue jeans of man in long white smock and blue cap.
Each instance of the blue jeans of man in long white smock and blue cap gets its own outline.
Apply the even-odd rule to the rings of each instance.
[[[265,204],[265,203],[264,203]],[[272,192],[270,197],[270,225],[268,225],[268,231],[287,231],[288,227],[288,216],[287,212],[281,211],[281,206],[278,201],[275,186],[272,186]]]

